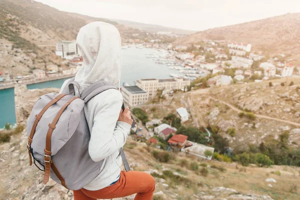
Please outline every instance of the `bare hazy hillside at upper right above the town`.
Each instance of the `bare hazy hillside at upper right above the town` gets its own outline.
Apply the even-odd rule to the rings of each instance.
[[[179,38],[175,43],[196,43],[203,38],[251,43],[254,51],[284,53],[300,58],[300,13],[211,28]]]

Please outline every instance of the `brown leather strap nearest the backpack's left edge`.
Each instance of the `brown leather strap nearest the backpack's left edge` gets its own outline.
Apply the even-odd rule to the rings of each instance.
[[[44,108],[42,108],[42,110],[35,115],[35,120],[33,122],[32,128],[31,128],[31,132],[30,135],[28,137],[28,142],[27,142],[27,146],[26,149],[28,151],[28,155],[29,155],[29,165],[32,165],[32,158],[31,158],[31,153],[30,153],[30,149],[31,149],[31,143],[32,143],[32,138],[33,135],[35,133],[35,128],[37,126],[38,121],[41,119],[42,115],[45,113],[45,111],[54,103],[56,103],[58,100],[60,100],[63,96],[65,96],[66,94],[59,94],[58,96],[56,96],[54,99],[52,99],[50,102],[48,102],[46,104],[46,106],[44,106]]]

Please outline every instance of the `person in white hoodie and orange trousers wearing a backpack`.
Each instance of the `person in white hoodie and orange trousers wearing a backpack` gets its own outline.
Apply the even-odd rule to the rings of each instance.
[[[121,39],[113,25],[92,22],[81,27],[76,44],[83,56],[83,65],[75,76],[80,85],[76,95],[98,80],[120,86]],[[108,89],[85,104],[84,113],[90,130],[88,153],[93,161],[104,161],[100,173],[90,183],[73,191],[74,200],[108,199],[134,193],[137,193],[136,200],[152,199],[155,179],[151,175],[120,170],[119,148],[124,145],[132,124],[129,109],[121,110],[122,103],[121,93]]]

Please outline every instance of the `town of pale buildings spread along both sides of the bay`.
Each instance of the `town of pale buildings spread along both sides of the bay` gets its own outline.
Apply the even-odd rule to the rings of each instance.
[[[170,34],[170,33],[163,33]],[[282,53],[269,57],[263,52],[251,51],[251,44],[227,42],[225,40],[202,39],[199,44],[172,45],[160,39],[143,41],[124,39],[122,49],[153,48],[155,53],[146,54],[153,62],[174,69],[168,74],[172,78],[193,81],[207,77],[208,86],[232,83],[259,82],[274,78],[300,75],[300,66],[293,64],[297,59],[285,58]],[[73,76],[82,66],[83,60],[75,41],[60,41],[55,46],[56,56],[65,59],[60,64],[45,63],[44,69],[36,67],[32,73],[24,76],[0,71],[0,88],[13,87],[13,84],[46,81]],[[183,84],[180,88],[187,86]]]

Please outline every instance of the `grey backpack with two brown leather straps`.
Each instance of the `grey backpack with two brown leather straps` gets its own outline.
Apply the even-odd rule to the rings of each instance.
[[[104,90],[116,89],[100,80],[89,85],[80,96],[75,96],[74,86],[79,90],[79,84],[71,78],[61,94],[53,92],[40,96],[26,126],[30,166],[32,156],[34,164],[44,171],[44,184],[51,176],[72,190],[80,189],[94,179],[103,162],[94,162],[88,153],[90,132],[84,116],[84,103]],[[128,171],[122,148],[120,155]]]

